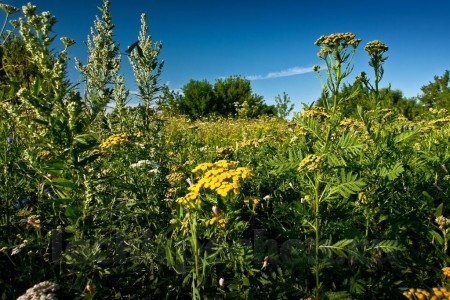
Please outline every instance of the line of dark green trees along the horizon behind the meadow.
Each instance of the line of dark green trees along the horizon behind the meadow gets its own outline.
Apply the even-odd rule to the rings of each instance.
[[[30,53],[27,51],[18,36],[10,35],[3,40],[0,45],[0,84],[3,87],[11,87],[8,80],[11,77],[22,81],[16,85],[27,85],[40,72],[30,63]],[[351,99],[344,101],[344,112],[348,116],[357,113],[357,106],[374,109],[370,89],[359,78],[353,83],[343,84],[340,91],[340,97]],[[423,116],[429,108],[450,110],[449,80],[449,70],[445,70],[442,76],[436,75],[432,81],[423,85],[420,95],[412,98],[404,97],[401,90],[390,86],[381,88],[378,105],[394,109],[410,120]],[[2,90],[5,93],[8,89]],[[322,93],[313,105],[323,106],[327,97],[326,93]],[[163,108],[171,114],[181,114],[191,119],[210,116],[257,118],[263,115],[286,118],[294,109],[294,104],[285,92],[275,97],[275,104],[266,104],[263,96],[253,92],[250,80],[238,75],[217,79],[214,83],[191,79],[181,88],[181,92],[163,86],[158,98],[158,109]],[[14,97],[10,100],[14,101]]]

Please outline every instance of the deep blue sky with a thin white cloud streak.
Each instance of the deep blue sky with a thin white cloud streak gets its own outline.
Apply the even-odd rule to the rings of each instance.
[[[28,1],[5,0],[15,6]],[[82,61],[90,27],[101,0],[31,1],[58,19],[55,33],[77,41],[69,54]],[[177,90],[190,79],[240,75],[268,104],[286,92],[300,103],[316,100],[320,82],[311,67],[321,64],[314,45],[321,35],[353,32],[362,39],[350,80],[361,71],[371,77],[364,45],[379,39],[388,47],[381,86],[391,84],[406,97],[450,69],[450,1],[303,0],[111,0],[115,38],[122,52],[137,40],[141,13],[147,14],[154,41],[163,44],[161,83]],[[126,57],[123,73],[134,89]],[[73,60],[71,78],[80,79]]]

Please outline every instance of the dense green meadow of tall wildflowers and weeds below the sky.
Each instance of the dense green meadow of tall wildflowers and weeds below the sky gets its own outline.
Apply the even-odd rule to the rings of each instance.
[[[374,79],[348,85],[361,40],[319,37],[324,96],[292,121],[286,94],[279,118],[192,121],[158,86],[145,15],[127,49],[140,102],[126,105],[107,0],[101,11],[76,60],[83,94],[66,79],[74,41],[54,46],[50,13],[28,4],[2,30],[2,299],[448,298],[450,114],[386,107],[402,98],[379,87],[386,45],[367,43]],[[445,74],[424,103],[444,103]],[[250,91],[239,77],[191,81],[184,97],[201,101],[186,109],[239,115],[242,100],[253,116]]]

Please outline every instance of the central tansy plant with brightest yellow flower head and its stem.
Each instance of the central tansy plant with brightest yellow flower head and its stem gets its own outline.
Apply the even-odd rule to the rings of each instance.
[[[206,267],[213,266],[214,263],[209,261],[206,255],[202,258],[198,239],[218,238],[215,233],[219,231],[220,237],[226,238],[233,232],[233,228],[228,226],[227,215],[233,215],[235,212],[228,210],[233,210],[236,199],[240,201],[241,197],[238,196],[241,194],[242,183],[252,176],[252,172],[247,167],[238,167],[235,161],[219,160],[214,163],[201,163],[192,173],[195,179],[194,182],[188,180],[188,193],[176,202],[180,205],[179,216],[182,218],[180,230],[184,232],[184,236],[188,236],[194,260],[193,268],[187,275],[187,278],[192,278],[191,296],[200,299],[208,277]],[[238,223],[235,218],[233,224]]]

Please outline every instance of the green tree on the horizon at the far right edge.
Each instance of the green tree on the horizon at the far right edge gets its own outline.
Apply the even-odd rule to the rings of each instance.
[[[450,108],[450,89],[449,89],[450,74],[446,70],[444,74],[434,76],[434,81],[420,88],[422,95],[419,96],[419,101],[426,107],[436,108]]]

